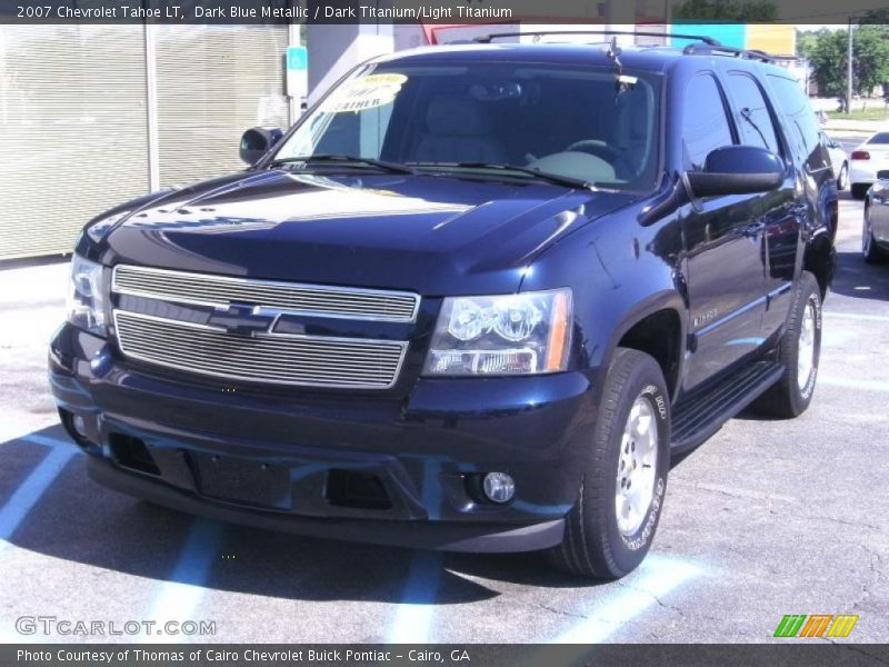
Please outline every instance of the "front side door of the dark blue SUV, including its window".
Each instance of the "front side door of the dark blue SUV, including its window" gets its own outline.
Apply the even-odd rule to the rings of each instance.
[[[710,151],[738,142],[728,100],[711,71],[697,72],[680,104],[683,168],[700,170]],[[708,197],[682,220],[687,251],[691,389],[757,349],[766,308],[765,227],[758,196]]]

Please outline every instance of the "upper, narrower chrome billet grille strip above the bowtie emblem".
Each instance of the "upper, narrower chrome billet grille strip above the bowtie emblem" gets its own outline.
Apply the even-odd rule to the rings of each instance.
[[[118,265],[111,289],[118,293],[177,303],[227,308],[250,303],[292,315],[412,322],[420,305],[411,292],[298,285]]]

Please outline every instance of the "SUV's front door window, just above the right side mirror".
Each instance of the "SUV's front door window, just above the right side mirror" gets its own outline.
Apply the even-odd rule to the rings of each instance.
[[[682,109],[682,140],[687,166],[693,170],[703,169],[711,150],[735,143],[719,86],[710,74],[698,74],[688,84]]]

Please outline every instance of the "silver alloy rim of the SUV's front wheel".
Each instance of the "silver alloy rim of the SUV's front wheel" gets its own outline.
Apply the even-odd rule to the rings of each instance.
[[[655,495],[658,425],[651,400],[640,395],[630,409],[620,441],[615,510],[618,530],[631,536],[642,525]]]

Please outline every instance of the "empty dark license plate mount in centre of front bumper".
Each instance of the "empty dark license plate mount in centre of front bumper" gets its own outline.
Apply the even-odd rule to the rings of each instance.
[[[267,509],[292,509],[290,469],[230,456],[191,452],[201,495]]]

